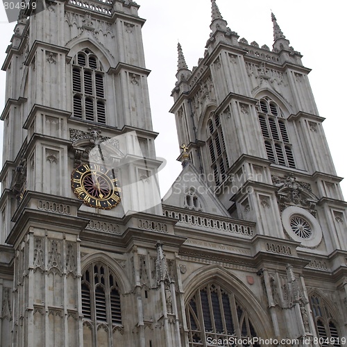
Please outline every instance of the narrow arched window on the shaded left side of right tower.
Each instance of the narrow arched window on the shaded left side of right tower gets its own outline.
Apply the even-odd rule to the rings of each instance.
[[[208,120],[208,151],[210,153],[211,169],[216,185],[220,185],[226,178],[229,168],[226,143],[224,141],[223,129],[219,115],[214,115]]]

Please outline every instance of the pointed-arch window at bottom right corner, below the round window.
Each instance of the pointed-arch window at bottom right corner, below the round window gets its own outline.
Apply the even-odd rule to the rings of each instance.
[[[341,336],[339,335],[337,323],[333,319],[330,308],[323,301],[323,298],[318,294],[310,295],[310,305],[317,336],[324,342],[321,346],[340,346],[339,341],[341,341]]]

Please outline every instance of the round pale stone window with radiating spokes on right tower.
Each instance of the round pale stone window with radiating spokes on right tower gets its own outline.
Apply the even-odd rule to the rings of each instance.
[[[322,230],[318,221],[303,208],[289,206],[282,213],[282,223],[285,231],[301,246],[316,247],[322,239]]]

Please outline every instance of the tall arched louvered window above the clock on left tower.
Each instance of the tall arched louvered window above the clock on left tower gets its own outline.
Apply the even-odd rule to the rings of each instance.
[[[72,60],[73,116],[105,124],[105,86],[101,62],[89,50]]]

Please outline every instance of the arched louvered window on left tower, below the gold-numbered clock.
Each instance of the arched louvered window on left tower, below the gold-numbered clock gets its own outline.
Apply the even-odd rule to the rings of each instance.
[[[82,313],[94,327],[121,324],[121,297],[115,274],[100,262],[85,269],[81,281]]]

